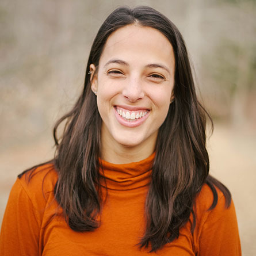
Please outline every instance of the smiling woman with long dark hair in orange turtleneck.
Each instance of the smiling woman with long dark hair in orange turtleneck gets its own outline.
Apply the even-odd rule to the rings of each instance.
[[[240,255],[230,192],[208,175],[205,116],[175,25],[116,9],[55,125],[55,158],[13,186],[2,255]]]

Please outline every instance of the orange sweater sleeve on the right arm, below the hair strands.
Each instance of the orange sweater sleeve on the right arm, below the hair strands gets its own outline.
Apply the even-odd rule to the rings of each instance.
[[[216,207],[208,211],[199,238],[198,255],[241,255],[234,203],[231,201],[230,207],[226,208],[223,194],[221,194]]]

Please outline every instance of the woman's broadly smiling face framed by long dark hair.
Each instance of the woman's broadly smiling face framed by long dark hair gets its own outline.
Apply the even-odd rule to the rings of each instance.
[[[103,121],[102,147],[154,151],[172,98],[174,66],[173,47],[156,29],[127,25],[109,36],[91,81]]]

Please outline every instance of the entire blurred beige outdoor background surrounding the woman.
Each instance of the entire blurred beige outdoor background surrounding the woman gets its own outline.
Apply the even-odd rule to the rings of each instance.
[[[148,5],[184,35],[215,129],[211,173],[231,190],[243,255],[256,255],[256,1],[0,2],[0,223],[22,170],[54,155],[52,128],[81,93],[90,45],[116,7]]]

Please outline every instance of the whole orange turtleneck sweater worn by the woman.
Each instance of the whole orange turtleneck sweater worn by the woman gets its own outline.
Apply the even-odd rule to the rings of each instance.
[[[151,177],[154,154],[143,161],[113,165],[102,161],[108,197],[102,205],[101,226],[95,231],[75,232],[63,216],[55,216],[58,203],[54,186],[58,174],[52,165],[36,169],[28,182],[25,174],[10,192],[0,236],[0,255],[150,255],[136,244],[145,228],[144,202]],[[106,189],[102,184],[103,196]],[[43,190],[42,190],[43,189]],[[213,196],[204,185],[196,200],[196,229],[190,222],[181,228],[179,238],[152,255],[241,255],[233,202],[225,199],[208,211]]]

